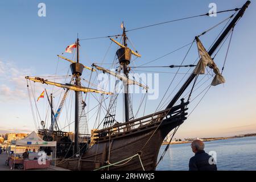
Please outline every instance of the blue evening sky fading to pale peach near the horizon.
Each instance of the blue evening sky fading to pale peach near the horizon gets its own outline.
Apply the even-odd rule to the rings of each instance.
[[[45,17],[38,16],[38,4],[42,2],[46,4]],[[80,39],[121,34],[122,21],[129,30],[208,13],[209,3],[216,3],[217,11],[221,11],[241,7],[245,1],[127,1],[124,5],[121,5],[121,1],[1,1],[0,133],[29,133],[36,130],[24,76],[67,74],[68,63],[58,61],[56,55],[74,43],[77,34]],[[142,55],[134,61],[133,66],[145,64],[192,42],[196,35],[231,14],[229,12],[218,14],[216,17],[203,16],[127,32],[129,40],[133,43],[130,45],[131,48],[135,47]],[[175,135],[176,138],[228,137],[256,133],[255,16],[256,5],[253,1],[234,28],[223,73],[226,83],[212,87],[193,110],[201,98],[196,97],[200,89],[195,92],[192,96],[192,100],[195,98],[195,101],[191,102],[188,110],[188,113],[192,114],[181,125]],[[200,37],[206,48],[209,48],[224,25],[221,24],[220,27]],[[112,44],[109,48],[109,45],[109,39],[81,41],[82,63],[90,66],[103,59],[105,63],[112,63],[117,46]],[[224,63],[227,46],[228,44],[224,44],[214,59],[220,68]],[[185,47],[147,65],[180,64],[188,48]],[[72,55],[64,55],[72,58]],[[184,64],[192,64],[196,57],[197,50],[193,44]],[[137,70],[154,72],[155,68]],[[176,72],[177,69],[163,68],[158,71]],[[180,72],[187,72],[187,68],[181,68]],[[84,73],[84,77],[89,80],[89,73]],[[147,101],[145,114],[155,111],[173,77],[174,74],[159,73],[159,97]],[[183,75],[176,77],[167,95],[171,90],[177,91],[180,88],[181,85],[178,84],[182,77]],[[178,86],[175,89],[176,85]],[[207,85],[202,87],[205,86]],[[46,87],[36,85],[35,95],[39,96]],[[168,97],[169,100],[174,93]],[[133,104],[138,107],[136,101],[135,96]],[[42,116],[46,115],[46,105],[46,99],[39,105]]]

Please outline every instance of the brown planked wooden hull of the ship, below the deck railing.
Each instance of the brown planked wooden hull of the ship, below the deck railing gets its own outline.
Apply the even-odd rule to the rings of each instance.
[[[134,171],[143,170],[143,168],[146,171],[155,170],[159,149],[164,138],[183,121],[183,119],[180,121],[164,119],[160,126],[149,126],[143,131],[131,131],[129,135],[126,134],[119,138],[110,137],[109,140],[94,144],[81,159],[67,160],[58,166],[71,170],[94,170],[140,154],[142,163],[137,155],[130,160],[118,163],[116,166],[102,168],[102,170]]]

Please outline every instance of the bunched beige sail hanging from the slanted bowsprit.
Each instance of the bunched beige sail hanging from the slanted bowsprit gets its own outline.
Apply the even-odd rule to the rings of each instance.
[[[216,86],[218,84],[224,84],[225,78],[221,75],[220,70],[217,68],[217,65],[209,56],[208,52],[204,48],[199,38],[196,38],[196,42],[197,42],[197,48],[198,48],[200,60],[197,63],[193,73],[196,75],[202,75],[205,73],[205,68],[208,66],[209,68],[213,69],[213,72],[216,74],[213,78],[212,85]]]

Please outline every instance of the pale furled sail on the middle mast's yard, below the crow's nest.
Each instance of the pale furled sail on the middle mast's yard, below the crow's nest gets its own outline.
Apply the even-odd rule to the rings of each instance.
[[[135,81],[135,80],[131,80],[131,79],[127,78],[127,77],[124,76],[124,75],[120,75],[120,74],[118,74],[118,73],[112,72],[112,71],[110,71],[110,70],[108,70],[108,69],[99,67],[99,66],[97,66],[97,65],[95,65],[95,64],[93,64],[93,66],[94,66],[96,69],[98,69],[98,70],[100,70],[100,71],[102,71],[102,72],[109,73],[110,75],[119,78],[119,80],[121,80],[121,81],[123,81],[123,82],[126,82],[126,83],[129,84],[129,85],[138,85],[138,86],[141,86],[142,88],[144,88],[144,89],[146,89],[146,90],[148,89],[148,86],[143,85],[143,84],[141,84],[141,83],[139,83],[139,82],[137,82],[137,81]]]

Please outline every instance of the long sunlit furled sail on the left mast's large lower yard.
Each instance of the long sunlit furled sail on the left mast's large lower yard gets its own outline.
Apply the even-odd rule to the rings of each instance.
[[[32,81],[35,81],[35,82],[42,82],[42,84],[54,85],[54,86],[58,86],[60,88],[67,88],[69,90],[74,90],[74,91],[77,91],[77,92],[95,92],[95,93],[102,93],[102,94],[112,94],[111,92],[104,92],[104,91],[101,91],[101,90],[87,88],[87,87],[84,87],[84,86],[77,86],[77,85],[73,85],[73,84],[59,84],[59,83],[56,83],[56,82],[44,80],[43,78],[39,78],[39,77],[26,76],[25,78],[29,79],[29,80],[32,80]]]

